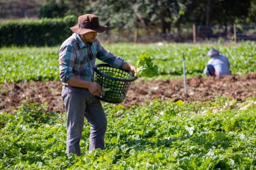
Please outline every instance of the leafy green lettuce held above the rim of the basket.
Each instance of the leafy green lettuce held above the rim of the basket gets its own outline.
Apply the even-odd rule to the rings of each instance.
[[[139,56],[135,75],[138,77],[154,77],[158,75],[158,66],[153,65],[149,54],[143,53]]]

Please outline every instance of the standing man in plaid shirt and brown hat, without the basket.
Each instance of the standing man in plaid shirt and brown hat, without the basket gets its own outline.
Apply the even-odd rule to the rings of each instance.
[[[94,82],[96,58],[119,69],[135,73],[136,68],[119,56],[106,50],[96,38],[106,26],[100,26],[98,17],[85,14],[78,17],[78,24],[70,28],[73,34],[63,42],[59,51],[59,75],[62,99],[67,114],[67,155],[81,155],[79,141],[82,136],[84,118],[90,124],[89,151],[104,149],[106,116],[96,95],[103,93]]]

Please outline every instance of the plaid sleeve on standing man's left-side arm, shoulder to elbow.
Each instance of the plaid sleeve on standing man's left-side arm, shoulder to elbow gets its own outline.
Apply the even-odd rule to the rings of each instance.
[[[59,77],[62,83],[66,83],[74,75],[72,73],[75,62],[75,49],[73,46],[61,46],[59,52]]]

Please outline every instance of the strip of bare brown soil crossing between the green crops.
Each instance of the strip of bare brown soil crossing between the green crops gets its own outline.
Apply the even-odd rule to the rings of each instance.
[[[28,102],[48,103],[49,112],[63,113],[60,81],[3,83],[0,84],[0,113],[13,113]],[[166,81],[141,81],[137,79],[131,84],[123,105],[147,104],[152,99],[179,99],[185,102],[209,101],[216,96],[232,97],[243,101],[256,95],[256,73],[249,75],[228,75],[221,77],[195,77],[187,79],[187,92],[184,90],[183,79]]]

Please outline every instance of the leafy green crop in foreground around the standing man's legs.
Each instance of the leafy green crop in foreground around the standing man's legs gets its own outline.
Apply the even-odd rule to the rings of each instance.
[[[104,103],[106,148],[88,153],[85,124],[81,157],[65,154],[65,114],[24,103],[15,115],[0,114],[0,168],[255,169],[255,103],[222,97],[205,103],[156,99],[130,109]]]

